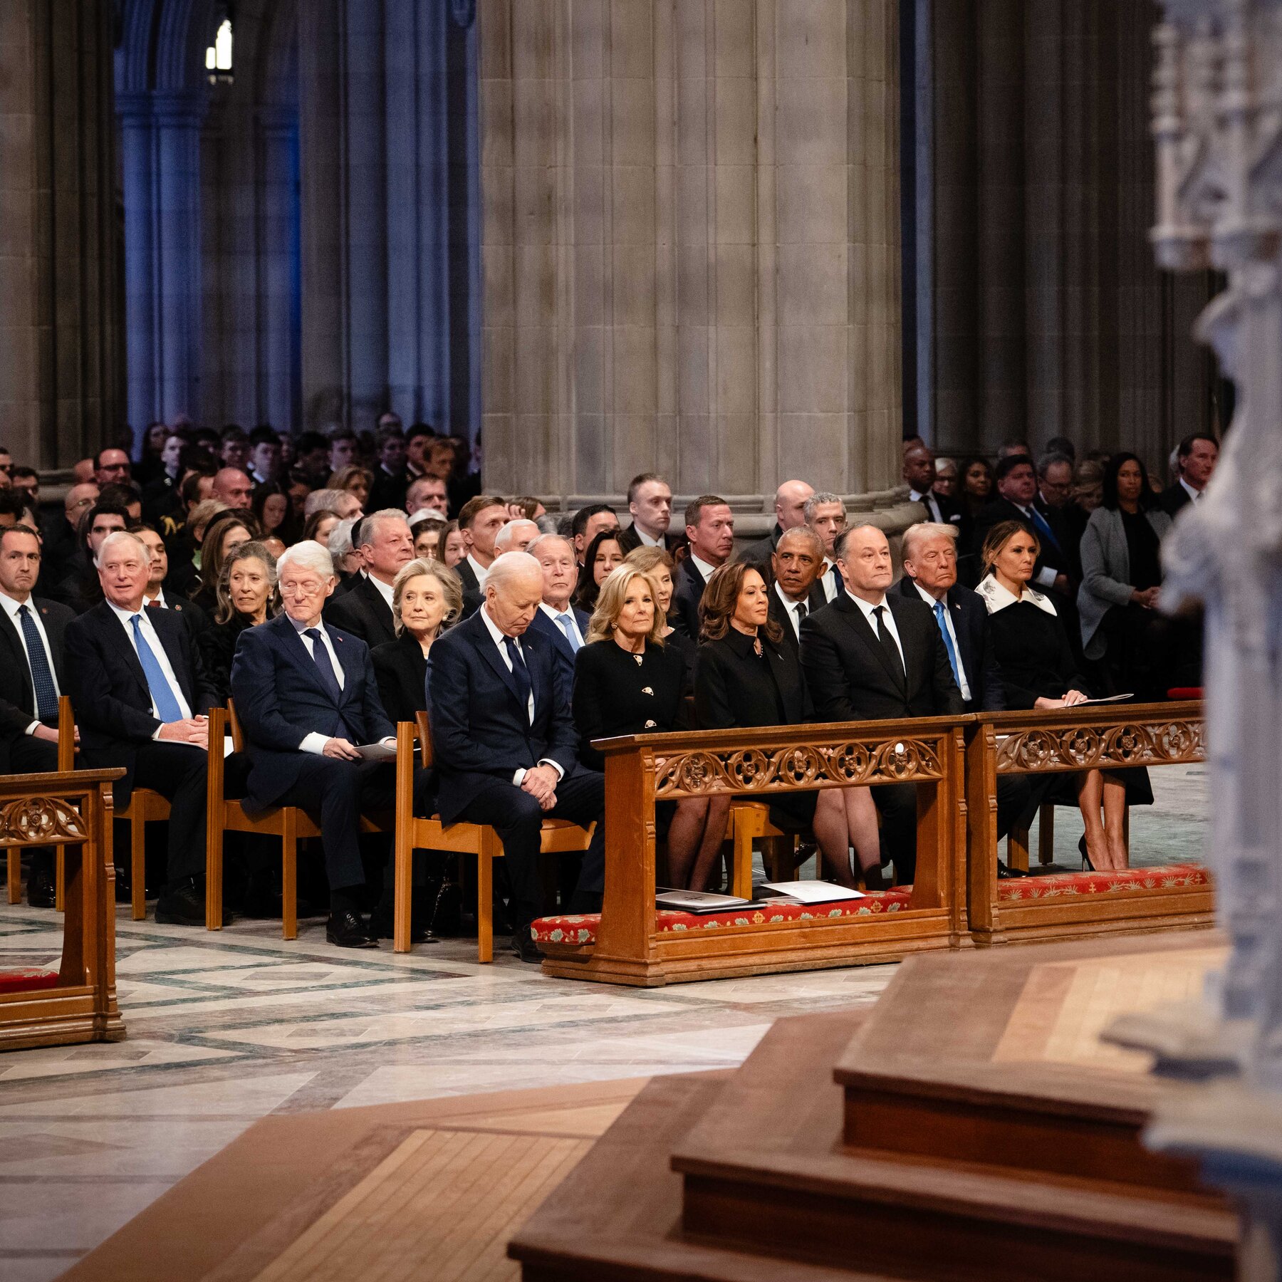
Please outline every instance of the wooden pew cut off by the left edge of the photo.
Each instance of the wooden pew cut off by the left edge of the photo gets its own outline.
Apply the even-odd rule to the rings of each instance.
[[[112,781],[124,770],[0,777],[0,846],[62,845],[63,958],[58,974],[4,985],[0,1049],[121,1041],[115,1004]]]

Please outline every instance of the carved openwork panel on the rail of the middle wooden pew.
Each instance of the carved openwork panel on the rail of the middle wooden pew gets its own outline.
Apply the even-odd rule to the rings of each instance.
[[[924,740],[799,744],[765,751],[709,749],[655,758],[659,800],[710,792],[786,792],[853,783],[929,783],[944,777],[936,746]]]

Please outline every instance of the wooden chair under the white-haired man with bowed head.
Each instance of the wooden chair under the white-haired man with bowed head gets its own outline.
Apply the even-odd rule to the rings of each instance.
[[[422,764],[432,764],[432,728],[427,713],[417,723],[396,727],[396,908],[394,947],[409,953],[410,879],[415,850],[444,850],[473,855],[477,862],[477,960],[494,960],[494,860],[503,858],[499,833],[485,823],[441,823],[440,815],[424,819],[414,814],[414,738]],[[568,819],[544,819],[542,853],[581,854],[592,840],[592,831]]]

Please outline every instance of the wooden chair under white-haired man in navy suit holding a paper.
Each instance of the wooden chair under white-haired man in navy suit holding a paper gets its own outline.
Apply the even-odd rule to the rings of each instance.
[[[238,800],[223,795],[226,759],[222,745],[227,729],[232,732],[232,750],[245,751],[245,733],[236,717],[236,705],[228,699],[226,708],[209,709],[209,781],[205,800],[205,929],[223,927],[223,835],[256,832],[277,837],[281,842],[281,936],[299,937],[299,842],[320,836],[320,826],[299,806],[273,806],[250,815]],[[388,832],[383,817],[360,817],[362,832]]]

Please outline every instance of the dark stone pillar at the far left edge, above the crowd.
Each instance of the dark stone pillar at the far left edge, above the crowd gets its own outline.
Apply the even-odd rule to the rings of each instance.
[[[42,469],[123,413],[112,45],[96,0],[0,5],[0,422]]]

